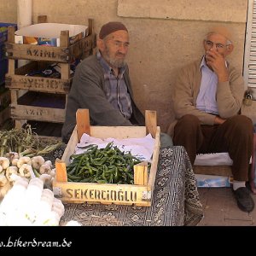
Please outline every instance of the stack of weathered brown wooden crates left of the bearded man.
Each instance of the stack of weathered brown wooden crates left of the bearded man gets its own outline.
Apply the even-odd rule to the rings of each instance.
[[[38,17],[38,23],[46,16]],[[33,44],[15,44],[15,29],[9,26],[6,51],[9,58],[9,73],[6,87],[11,92],[11,118],[15,126],[22,126],[27,120],[49,123],[63,123],[65,120],[67,95],[73,75],[70,66],[73,60],[82,60],[91,55],[96,47],[96,33],[93,20],[89,21],[89,35],[77,43],[69,44],[69,31],[61,31],[60,47],[45,47]],[[28,64],[15,68],[15,60],[29,60]],[[42,70],[49,64],[61,67],[61,78],[29,76],[35,70]],[[20,91],[26,90],[24,95]]]

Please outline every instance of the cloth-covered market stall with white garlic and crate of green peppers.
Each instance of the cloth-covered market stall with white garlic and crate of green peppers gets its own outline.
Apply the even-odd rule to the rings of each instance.
[[[81,113],[84,113],[84,110]],[[89,116],[88,113],[87,115]],[[117,146],[113,146],[113,142],[105,143],[100,149],[95,144],[91,146],[83,142],[84,136],[90,142],[92,138],[84,134],[81,129],[86,130],[90,135],[98,134],[97,141],[100,141],[99,137],[107,137],[108,129],[105,127],[102,132],[101,127],[95,126],[96,131],[94,131],[92,126],[83,124],[85,120],[83,115],[78,114],[78,117],[83,121],[78,122],[73,137],[67,145],[57,143],[45,148],[35,148],[40,143],[29,127],[24,131],[23,136],[20,136],[20,130],[3,132],[2,145],[5,146],[2,147],[1,154],[6,156],[6,153],[13,151],[9,148],[13,146],[18,156],[13,154],[8,166],[4,166],[4,163],[2,165],[1,175],[7,177],[11,185],[8,189],[9,193],[3,198],[3,204],[0,205],[0,213],[4,217],[2,225],[66,225],[70,221],[76,221],[79,225],[92,226],[174,226],[195,225],[200,222],[203,216],[202,206],[189,157],[183,147],[160,148],[159,128],[155,126],[154,112],[146,113],[145,127],[128,127],[129,132],[125,127],[121,129],[123,131],[119,131],[119,127],[108,131],[112,131],[115,137],[126,137],[125,140],[129,140],[128,137],[132,135],[131,140],[136,139],[140,143],[146,131],[148,136],[153,134],[154,150],[151,154],[153,152],[154,154],[149,167],[147,163],[145,164],[145,160],[132,156],[132,148],[129,149],[131,150],[129,154],[125,154]],[[14,131],[18,136],[15,137]],[[10,137],[15,137],[11,143]],[[5,142],[7,138],[9,139]],[[148,137],[146,138],[148,140]],[[34,148],[32,148],[33,144],[35,144]],[[77,151],[75,154],[75,148],[78,150],[83,148],[85,152]],[[124,148],[123,144],[121,148]],[[138,144],[135,148],[138,148]],[[140,153],[143,152],[142,148],[139,150]],[[92,159],[93,155],[96,159]],[[26,163],[21,163],[21,160],[25,160],[24,157]],[[70,162],[72,157],[73,161]],[[60,158],[62,161],[57,160]],[[48,159],[55,163],[56,172],[55,166],[50,166]],[[129,159],[128,165],[130,167],[132,165],[131,168],[126,168],[126,159]],[[7,170],[13,167],[10,165],[15,165],[13,161],[16,162],[17,170],[10,173]],[[82,164],[84,166],[81,169]],[[24,165],[26,172],[21,172],[20,168]],[[140,168],[134,168],[135,166]],[[3,188],[0,187],[0,192],[3,192]],[[21,198],[24,198],[23,204]],[[20,203],[17,204],[17,201]],[[32,207],[28,207],[29,205]],[[38,208],[41,211],[38,212]],[[47,214],[40,214],[44,211]],[[14,212],[16,215],[13,214]],[[20,214],[23,214],[24,218],[21,218]],[[16,220],[12,222],[14,218]]]

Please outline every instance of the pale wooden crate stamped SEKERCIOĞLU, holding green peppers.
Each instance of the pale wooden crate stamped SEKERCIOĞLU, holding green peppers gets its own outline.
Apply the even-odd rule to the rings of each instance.
[[[147,163],[134,168],[134,185],[110,183],[73,183],[67,182],[66,165],[70,155],[79,143],[83,133],[99,138],[145,137],[149,132],[155,138],[154,153],[148,176]],[[157,172],[160,150],[160,127],[156,126],[156,113],[146,111],[146,126],[90,126],[88,109],[79,109],[77,125],[67,144],[61,160],[56,160],[56,177],[53,184],[55,196],[65,202],[90,202],[149,207],[154,191],[154,180]]]

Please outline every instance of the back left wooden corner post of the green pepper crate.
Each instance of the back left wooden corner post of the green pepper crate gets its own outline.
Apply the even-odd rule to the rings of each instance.
[[[89,109],[78,109],[76,113],[78,126],[78,142],[84,133],[90,135],[90,116]]]

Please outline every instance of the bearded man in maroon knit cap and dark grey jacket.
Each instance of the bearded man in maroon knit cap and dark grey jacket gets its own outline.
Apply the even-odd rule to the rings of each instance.
[[[97,40],[98,51],[79,63],[67,98],[66,120],[61,136],[67,143],[76,125],[76,111],[90,110],[90,125],[145,125],[131,89],[125,56],[128,30],[121,22],[103,25]],[[161,147],[172,146],[172,138],[160,135]]]

